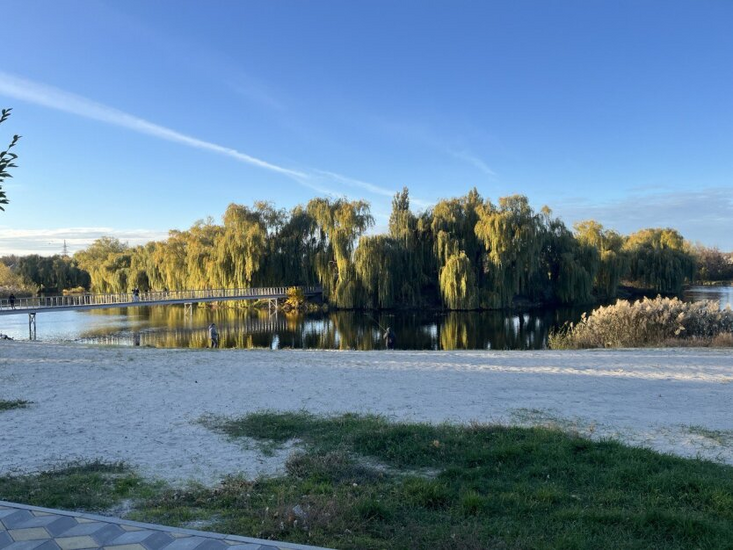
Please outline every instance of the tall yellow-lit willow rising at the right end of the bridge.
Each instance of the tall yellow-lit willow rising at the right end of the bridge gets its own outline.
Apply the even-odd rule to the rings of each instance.
[[[369,203],[317,198],[308,203],[307,212],[318,231],[314,264],[326,295],[338,307],[358,307],[359,285],[352,255],[356,240],[374,224]]]

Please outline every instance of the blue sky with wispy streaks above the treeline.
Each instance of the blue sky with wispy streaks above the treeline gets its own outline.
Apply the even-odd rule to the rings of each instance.
[[[3,0],[0,255],[476,187],[733,250],[729,0]]]

